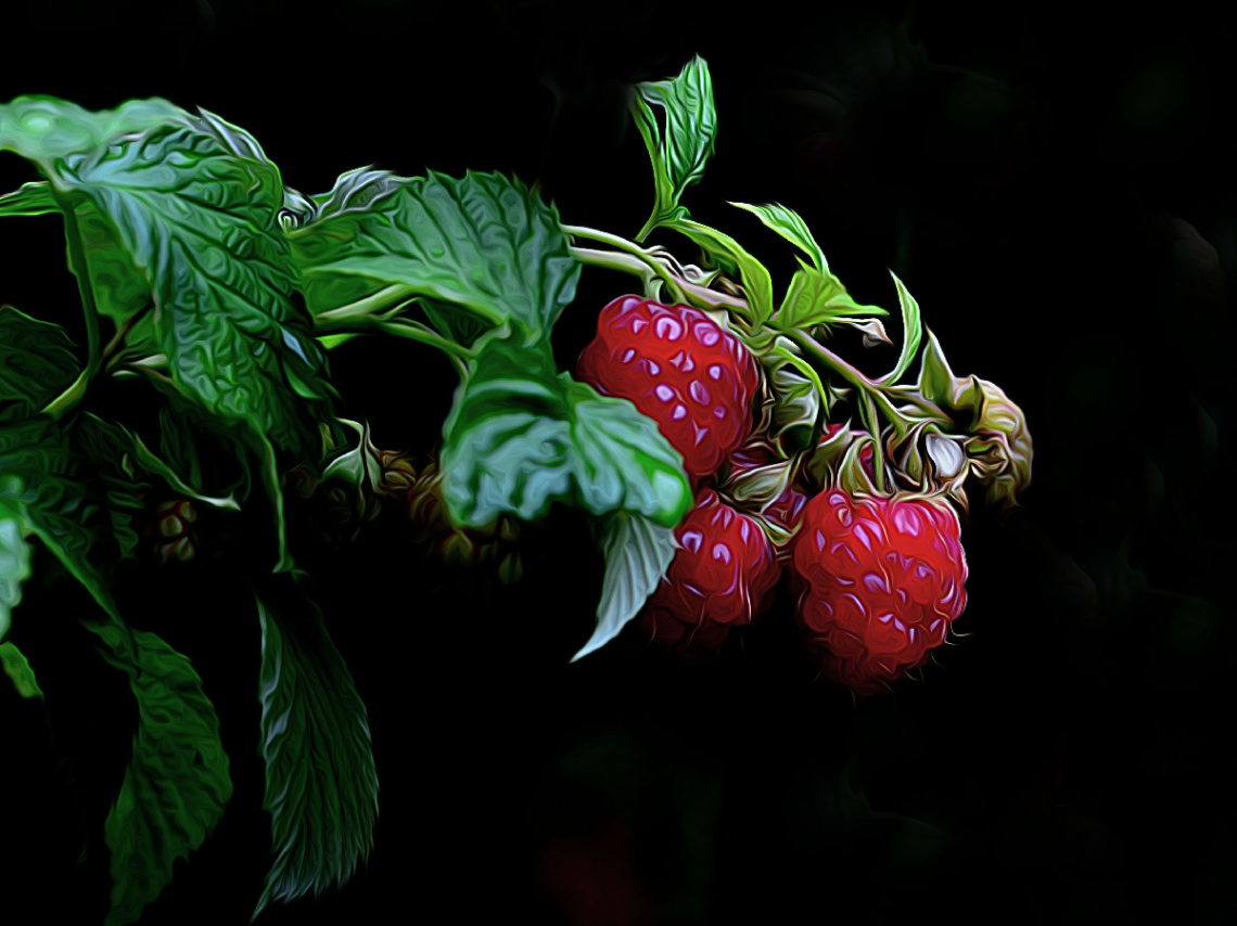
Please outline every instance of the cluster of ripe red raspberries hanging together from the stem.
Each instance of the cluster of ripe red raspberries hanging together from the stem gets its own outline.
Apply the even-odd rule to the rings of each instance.
[[[683,655],[721,647],[768,610],[783,575],[821,673],[856,695],[922,666],[966,606],[954,511],[938,498],[851,495],[762,439],[760,363],[704,312],[625,295],[602,309],[576,378],[630,399],[683,455],[695,507],[638,626]],[[829,425],[821,445],[841,425]],[[872,480],[870,435],[858,465]],[[762,502],[722,486],[781,487]]]

